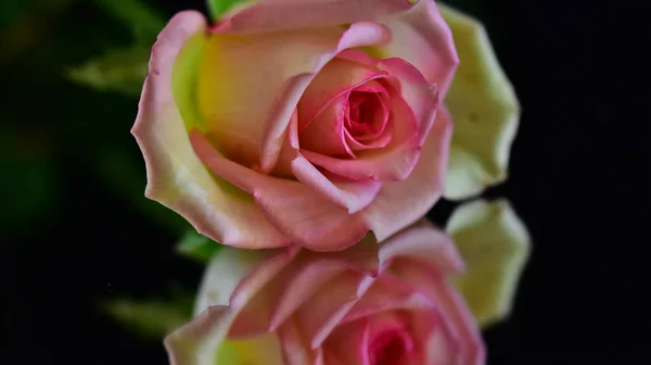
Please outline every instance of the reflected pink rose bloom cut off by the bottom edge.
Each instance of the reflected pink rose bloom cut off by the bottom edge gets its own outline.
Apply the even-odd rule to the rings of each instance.
[[[331,253],[225,248],[206,269],[201,314],[165,345],[174,365],[484,364],[448,282],[462,269],[451,239],[425,222]]]

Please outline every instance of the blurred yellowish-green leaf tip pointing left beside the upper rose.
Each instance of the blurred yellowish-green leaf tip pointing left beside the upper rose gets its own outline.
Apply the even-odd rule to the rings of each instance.
[[[149,47],[130,47],[107,52],[71,67],[66,76],[78,84],[101,90],[138,97],[148,73]]]

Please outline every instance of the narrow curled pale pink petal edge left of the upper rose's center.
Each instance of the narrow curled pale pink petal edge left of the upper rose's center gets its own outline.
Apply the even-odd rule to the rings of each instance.
[[[334,27],[334,29],[341,32],[341,27]],[[327,30],[332,32],[331,28],[323,29],[321,32]],[[304,34],[306,32],[305,29],[302,29],[299,32],[294,33]],[[341,37],[337,38],[339,41],[335,45],[331,45],[327,50],[319,49],[318,51],[320,51],[321,53],[318,53],[318,51],[314,49],[314,41],[298,45],[298,50],[301,51],[301,53],[312,55],[312,62],[311,64],[305,64],[303,68],[298,68],[296,66],[292,66],[289,68],[293,72],[293,76],[286,78],[285,86],[277,92],[278,98],[273,102],[273,108],[266,116],[267,122],[265,123],[264,134],[261,136],[260,142],[260,166],[264,172],[270,172],[271,169],[273,169],[273,165],[278,161],[280,151],[282,149],[284,136],[286,134],[288,124],[291,121],[292,113],[298,104],[298,100],[302,99],[302,96],[306,91],[308,84],[312,80],[312,78],[316,75],[319,74],[321,68],[324,67],[330,60],[332,60],[339,52],[343,50],[349,48],[380,45],[386,42],[388,37],[390,35],[386,32],[386,28],[382,25],[370,22],[361,22],[352,24],[347,30],[341,34]],[[292,54],[292,51],[288,49],[288,46],[284,42],[277,43],[275,46],[276,48],[280,48],[283,50],[283,52],[272,52],[273,55],[278,58],[278,64],[272,63],[269,65],[268,68],[266,68],[259,67],[259,63],[257,60],[254,60],[253,58],[250,60],[250,62],[255,63],[257,68],[261,68],[259,71],[265,72],[265,77],[260,78],[260,81],[258,81],[259,85],[257,85],[257,87],[259,87],[260,90],[267,90],[267,92],[269,89],[267,79],[269,77],[269,74],[282,75],[282,73],[279,73],[278,67],[285,65],[285,54]],[[314,55],[316,54],[318,54],[319,58],[314,58]],[[244,55],[250,56],[248,54]],[[266,64],[268,62],[268,58],[263,59],[265,59]],[[298,72],[299,70],[302,71]],[[255,77],[255,75],[250,75],[248,77]],[[275,77],[279,77],[279,75],[276,75]]]

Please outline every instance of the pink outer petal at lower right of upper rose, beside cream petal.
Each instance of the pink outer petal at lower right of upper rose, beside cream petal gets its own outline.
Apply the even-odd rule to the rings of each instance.
[[[409,177],[384,182],[373,202],[361,211],[379,241],[424,216],[441,198],[451,133],[449,114],[442,105]]]

